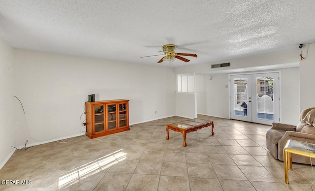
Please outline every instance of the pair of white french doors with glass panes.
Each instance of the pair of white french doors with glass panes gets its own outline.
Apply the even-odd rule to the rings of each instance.
[[[279,73],[230,75],[230,118],[280,122]]]

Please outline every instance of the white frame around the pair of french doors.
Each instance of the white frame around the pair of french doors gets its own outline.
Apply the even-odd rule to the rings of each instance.
[[[277,123],[281,123],[282,121],[282,111],[281,111],[281,108],[282,108],[282,93],[281,93],[281,71],[280,70],[275,70],[275,71],[258,71],[258,72],[244,72],[244,73],[232,73],[232,74],[228,74],[228,95],[229,95],[229,99],[228,99],[228,110],[229,110],[229,119],[231,119],[231,87],[230,87],[230,79],[231,79],[231,76],[233,75],[254,75],[254,74],[266,74],[266,73],[278,73],[279,74],[279,119],[274,119],[274,121],[272,122],[277,122]],[[271,123],[272,123],[271,122]],[[270,124],[267,124],[267,125],[271,125]]]

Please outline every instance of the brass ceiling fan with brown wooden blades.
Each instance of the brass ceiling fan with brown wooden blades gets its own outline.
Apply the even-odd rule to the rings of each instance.
[[[181,56],[189,56],[189,57],[195,57],[197,58],[196,54],[189,54],[189,53],[176,53],[175,49],[176,46],[174,44],[165,44],[162,46],[163,48],[163,52],[164,54],[159,54],[159,55],[152,55],[152,56],[144,56],[144,57],[153,57],[153,56],[161,56],[161,55],[165,55],[163,58],[161,58],[161,60],[158,61],[158,63],[161,63],[163,61],[174,61],[175,58],[184,61],[184,62],[189,62],[190,60],[181,57]],[[144,58],[144,57],[140,57],[140,58]]]

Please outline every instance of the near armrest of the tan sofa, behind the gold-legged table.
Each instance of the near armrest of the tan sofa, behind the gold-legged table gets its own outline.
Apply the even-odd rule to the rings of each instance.
[[[295,132],[295,131],[286,131],[284,136],[278,142],[278,159],[284,160],[284,146],[287,140],[297,140],[308,143],[315,143],[315,135],[303,133],[303,132]]]

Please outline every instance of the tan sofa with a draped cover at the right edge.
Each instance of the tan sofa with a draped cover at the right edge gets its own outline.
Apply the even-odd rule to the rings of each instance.
[[[288,139],[315,143],[315,107],[305,109],[300,114],[300,123],[293,125],[273,123],[266,133],[266,146],[270,154],[284,160],[284,145]],[[310,158],[292,154],[292,162],[310,164]],[[312,159],[315,164],[315,159]]]

